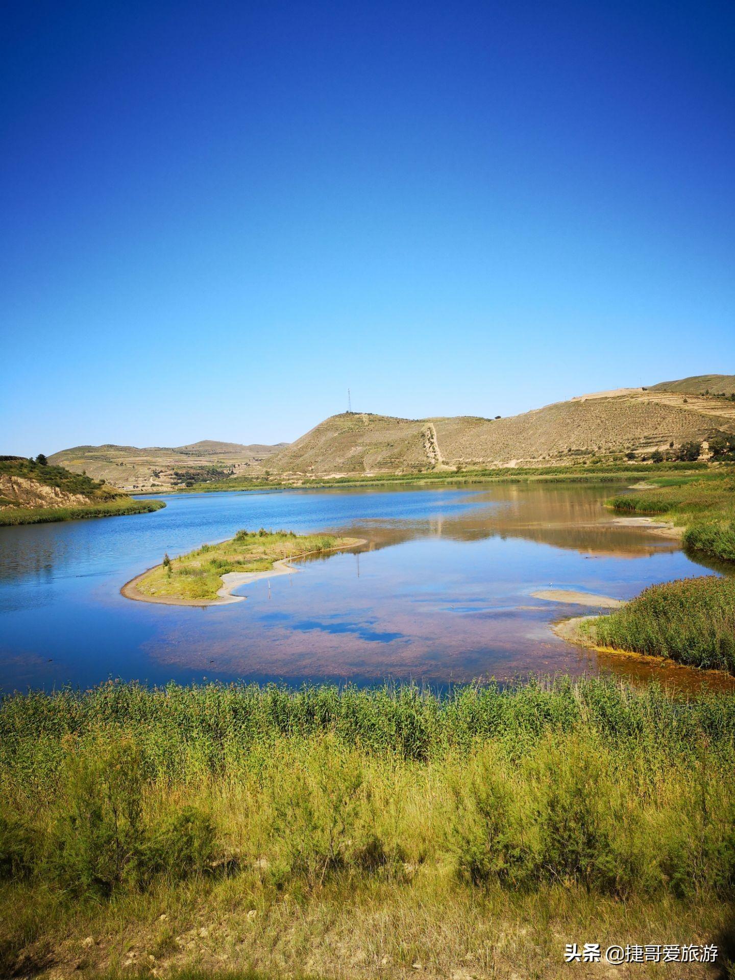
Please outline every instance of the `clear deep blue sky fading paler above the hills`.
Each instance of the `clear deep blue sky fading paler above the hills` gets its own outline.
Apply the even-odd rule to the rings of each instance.
[[[21,0],[0,452],[732,371],[735,5]]]

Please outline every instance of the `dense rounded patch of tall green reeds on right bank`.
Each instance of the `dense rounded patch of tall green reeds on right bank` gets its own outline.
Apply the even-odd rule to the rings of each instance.
[[[586,628],[600,646],[735,673],[735,579],[652,585]]]

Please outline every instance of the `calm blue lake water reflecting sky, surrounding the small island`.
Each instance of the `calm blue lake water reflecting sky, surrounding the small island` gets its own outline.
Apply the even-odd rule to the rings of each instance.
[[[709,573],[675,542],[615,526],[610,486],[498,485],[167,497],[130,515],[0,528],[0,688],[209,679],[444,684],[530,671],[613,670],[684,687],[700,674],[565,644],[550,624],[588,610],[540,588],[628,599]],[[239,528],[330,530],[353,553],[260,580],[210,609],[130,602],[124,582]],[[722,681],[726,683],[726,681]]]

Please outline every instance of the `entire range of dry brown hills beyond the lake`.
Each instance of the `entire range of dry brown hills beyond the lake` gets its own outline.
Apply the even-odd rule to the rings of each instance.
[[[293,443],[204,439],[177,448],[77,446],[50,457],[127,490],[156,490],[269,474],[363,475],[472,466],[559,466],[668,452],[671,444],[735,433],[735,375],[702,374],[640,388],[577,395],[507,418],[332,416]]]

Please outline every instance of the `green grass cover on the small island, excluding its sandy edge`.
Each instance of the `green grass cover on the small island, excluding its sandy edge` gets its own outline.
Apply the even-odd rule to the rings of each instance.
[[[152,568],[137,584],[149,596],[176,599],[216,599],[221,576],[230,571],[268,571],[281,559],[319,554],[357,544],[331,534],[296,535],[293,531],[238,531],[229,541],[202,545]]]

